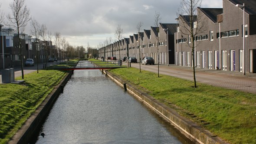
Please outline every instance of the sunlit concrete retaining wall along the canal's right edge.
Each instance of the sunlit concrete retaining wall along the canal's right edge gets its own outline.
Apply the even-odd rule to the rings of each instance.
[[[123,87],[124,83],[126,83],[108,71],[105,71],[105,73],[121,87]],[[167,121],[171,122],[171,124],[181,131],[182,134],[190,138],[192,141],[199,144],[226,144],[219,137],[216,137],[210,133],[210,131],[204,130],[201,126],[195,124],[193,121],[182,117],[176,111],[154,99],[151,95],[139,91],[128,83],[126,83],[126,88],[128,92],[135,95],[135,97],[143,101],[146,105],[150,106]]]

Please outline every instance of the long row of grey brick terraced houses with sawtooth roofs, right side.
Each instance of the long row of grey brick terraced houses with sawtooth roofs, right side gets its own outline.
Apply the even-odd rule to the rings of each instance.
[[[237,4],[241,6],[243,3],[244,16],[243,7],[237,7]],[[198,7],[197,15],[201,16],[206,29],[194,39],[194,62],[197,68],[256,73],[255,0],[223,0],[223,8]],[[140,36],[133,34],[102,47],[99,49],[99,57],[129,56],[139,61],[141,54],[141,58],[153,57],[155,63],[158,63],[159,55],[160,64],[191,67],[191,39],[189,35],[181,33],[184,29],[180,27],[184,24],[189,26],[189,16],[179,16],[176,20],[177,23],[159,23],[159,27],[144,29]],[[193,23],[196,26],[197,21]]]

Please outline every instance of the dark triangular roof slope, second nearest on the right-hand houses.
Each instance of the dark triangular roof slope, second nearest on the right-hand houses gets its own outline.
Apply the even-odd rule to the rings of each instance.
[[[201,10],[213,23],[217,23],[217,15],[223,13],[222,8],[200,8]]]

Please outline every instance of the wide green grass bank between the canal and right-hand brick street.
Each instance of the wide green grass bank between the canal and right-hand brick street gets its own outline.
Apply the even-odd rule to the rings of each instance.
[[[256,143],[256,95],[142,71],[112,69],[135,87],[231,144]],[[138,84],[139,79],[139,84]]]

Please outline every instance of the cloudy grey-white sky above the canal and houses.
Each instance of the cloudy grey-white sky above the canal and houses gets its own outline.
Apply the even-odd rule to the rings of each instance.
[[[1,0],[1,10],[10,13],[10,2]],[[161,14],[161,23],[176,23],[180,0],[25,0],[30,15],[52,32],[61,33],[72,46],[97,47],[107,37],[115,39],[118,24],[123,37],[136,33],[136,25],[143,29],[154,26],[155,12]],[[222,8],[222,0],[202,0],[203,8]],[[5,20],[7,20],[5,18]],[[30,35],[30,23],[25,33]]]

